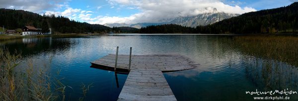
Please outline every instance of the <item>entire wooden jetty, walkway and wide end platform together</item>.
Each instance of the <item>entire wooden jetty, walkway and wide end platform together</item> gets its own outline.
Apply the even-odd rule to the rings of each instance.
[[[115,54],[91,62],[107,70],[115,70]],[[118,101],[177,101],[162,72],[197,68],[190,58],[177,54],[118,55],[116,71],[127,72],[128,77]]]

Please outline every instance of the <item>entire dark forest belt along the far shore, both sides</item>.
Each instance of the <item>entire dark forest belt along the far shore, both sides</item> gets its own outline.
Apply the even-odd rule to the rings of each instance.
[[[0,25],[6,26],[6,29],[16,29],[25,25],[31,25],[43,29],[52,28],[54,32],[61,33],[108,33],[111,31],[114,33],[297,33],[297,18],[298,2],[294,2],[288,6],[248,12],[214,24],[197,26],[195,28],[175,24],[162,24],[142,27],[139,30],[132,27],[111,28],[100,24],[78,22],[64,16],[42,16],[24,10],[0,9]]]

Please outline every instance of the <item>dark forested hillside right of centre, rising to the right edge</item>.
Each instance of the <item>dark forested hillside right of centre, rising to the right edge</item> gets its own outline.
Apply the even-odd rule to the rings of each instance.
[[[180,25],[154,25],[140,29],[141,33],[297,33],[298,2],[289,6],[248,12],[220,22],[189,28]]]

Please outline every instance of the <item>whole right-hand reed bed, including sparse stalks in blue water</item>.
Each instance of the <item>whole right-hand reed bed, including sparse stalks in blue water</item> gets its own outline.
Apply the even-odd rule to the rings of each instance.
[[[234,36],[232,42],[243,54],[241,61],[247,79],[259,89],[298,90],[297,36]]]

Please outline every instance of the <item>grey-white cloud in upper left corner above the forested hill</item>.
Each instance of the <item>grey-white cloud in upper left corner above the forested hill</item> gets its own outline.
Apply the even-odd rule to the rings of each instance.
[[[60,8],[66,0],[0,0],[0,8],[22,9],[37,13]]]

